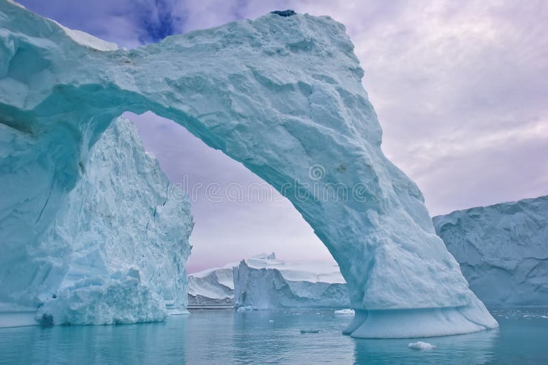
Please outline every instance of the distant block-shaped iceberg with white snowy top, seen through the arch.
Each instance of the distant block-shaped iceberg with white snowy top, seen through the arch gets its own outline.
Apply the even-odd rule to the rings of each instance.
[[[348,289],[332,262],[285,262],[274,254],[234,267],[234,306],[257,309],[344,308]]]

